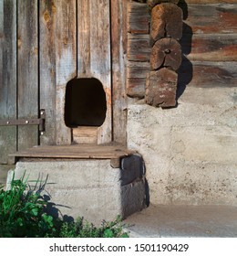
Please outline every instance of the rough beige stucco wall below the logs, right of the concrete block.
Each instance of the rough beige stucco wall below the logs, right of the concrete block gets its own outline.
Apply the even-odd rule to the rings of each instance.
[[[237,90],[187,88],[177,108],[130,103],[128,146],[152,204],[237,206]]]

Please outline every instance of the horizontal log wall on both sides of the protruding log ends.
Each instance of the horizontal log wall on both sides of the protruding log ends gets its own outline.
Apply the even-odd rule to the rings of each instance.
[[[180,0],[178,5],[183,10],[178,98],[186,86],[237,86],[237,1]],[[129,3],[128,20],[127,94],[143,98],[150,55],[146,4]]]

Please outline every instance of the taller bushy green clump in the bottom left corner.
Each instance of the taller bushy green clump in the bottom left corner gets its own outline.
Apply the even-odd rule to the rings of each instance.
[[[42,237],[53,228],[53,218],[45,213],[40,196],[42,186],[27,185],[25,176],[13,180],[9,190],[0,190],[0,237]]]

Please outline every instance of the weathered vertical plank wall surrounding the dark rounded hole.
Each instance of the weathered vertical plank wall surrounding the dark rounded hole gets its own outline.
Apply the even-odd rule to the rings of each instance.
[[[45,133],[37,125],[0,126],[0,164],[35,145],[72,144],[65,100],[74,79],[99,80],[105,91],[98,144],[126,144],[127,2],[0,1],[0,120],[46,111]]]

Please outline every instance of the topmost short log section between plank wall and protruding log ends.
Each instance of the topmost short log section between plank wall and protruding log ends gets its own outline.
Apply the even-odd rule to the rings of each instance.
[[[149,34],[149,10],[147,4],[128,3],[128,32]]]

